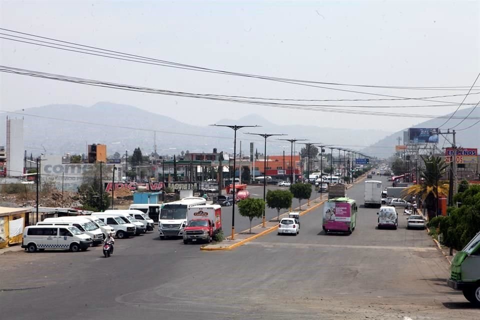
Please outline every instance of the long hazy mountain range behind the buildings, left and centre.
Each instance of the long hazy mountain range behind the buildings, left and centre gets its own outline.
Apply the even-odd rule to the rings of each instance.
[[[182,123],[171,117],[152,113],[135,106],[98,102],[86,107],[75,104],[51,104],[39,107],[26,108],[22,111],[24,117],[25,150],[27,154],[39,154],[46,150],[46,154],[60,155],[65,152],[84,153],[86,145],[90,143],[107,144],[108,154],[115,151],[124,153],[125,149],[131,154],[133,148],[139,146],[143,153],[153,151],[153,131],[156,130],[156,145],[159,154],[180,153],[181,150],[190,152],[211,152],[214,147],[218,151],[233,152],[233,131],[229,128],[214,126],[197,126]],[[30,114],[30,115],[29,115]],[[21,117],[19,114],[3,113],[0,116],[0,145],[5,144],[5,119]],[[38,115],[31,116],[31,115]],[[53,118],[67,119],[68,121]],[[76,122],[76,121],[80,121]],[[113,125],[95,125],[100,123]],[[248,149],[248,143],[255,141],[255,148],[263,150],[263,139],[259,136],[242,132],[285,133],[288,138],[305,138],[311,142],[328,142],[341,145],[369,145],[379,137],[390,133],[377,129],[329,128],[313,125],[278,125],[267,119],[249,114],[239,119],[220,119],[211,123],[217,124],[258,124],[259,128],[245,128],[237,132],[237,152],[239,141],[242,140],[242,153]],[[174,132],[174,133],[172,133]],[[268,153],[289,151],[289,147],[282,145],[289,143],[271,138]],[[300,146],[296,146],[298,151]],[[270,153],[270,154],[271,154]]]

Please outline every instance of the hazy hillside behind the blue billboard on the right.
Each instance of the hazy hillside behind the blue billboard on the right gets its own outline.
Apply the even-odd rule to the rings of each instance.
[[[465,108],[465,109],[460,109],[455,113],[455,116],[466,116],[472,109],[473,107],[470,108]],[[447,114],[450,116],[451,113]],[[471,117],[480,117],[480,107],[477,107],[473,110],[473,112],[470,114]],[[417,127],[417,128],[437,128],[440,125],[445,122],[445,118],[434,118],[430,119],[424,122],[421,122],[417,125],[413,125],[412,127]],[[446,128],[448,127],[453,127],[455,124],[460,122],[461,119],[452,119],[449,120],[446,125],[444,126],[445,131]],[[475,120],[476,121],[476,120]],[[471,124],[473,124],[473,120],[465,120],[463,121],[460,125],[455,127],[455,129],[460,129],[467,127]],[[400,143],[403,144],[403,131],[408,130],[408,128],[405,128],[401,131],[397,131],[393,134],[390,134],[383,139],[373,143],[369,147],[366,147],[362,149],[365,154],[372,154],[377,157],[388,157],[394,152],[395,145],[398,143],[397,137],[401,137]],[[442,129],[443,130],[443,129]],[[447,136],[448,140],[451,141],[451,135]],[[470,147],[470,148],[480,148],[480,123],[472,126],[469,129],[458,131],[455,134],[456,138],[456,145],[462,146],[462,147]],[[438,147],[441,148],[442,146],[449,146],[451,143],[449,141],[445,141],[445,139],[440,135],[439,137],[439,143]]]

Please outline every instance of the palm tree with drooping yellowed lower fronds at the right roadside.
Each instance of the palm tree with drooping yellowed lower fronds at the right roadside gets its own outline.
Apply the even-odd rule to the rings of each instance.
[[[440,180],[445,174],[448,164],[434,155],[421,156],[425,168],[420,173],[420,183],[409,186],[403,191],[405,195],[418,195],[425,202],[428,219],[438,211],[438,194],[448,194],[448,181]]]

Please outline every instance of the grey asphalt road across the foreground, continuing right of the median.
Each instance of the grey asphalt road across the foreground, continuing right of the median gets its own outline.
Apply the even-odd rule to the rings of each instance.
[[[363,185],[348,190],[362,203]],[[405,220],[406,221],[406,220]],[[224,222],[225,223],[225,222]],[[272,232],[232,251],[199,251],[156,232],[85,252],[0,255],[0,318],[478,319],[445,286],[425,231],[377,230],[360,208],[351,235],[325,235],[321,208],[298,236]]]

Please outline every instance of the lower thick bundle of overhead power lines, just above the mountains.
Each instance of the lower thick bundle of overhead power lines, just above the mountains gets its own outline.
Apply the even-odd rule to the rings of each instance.
[[[46,72],[40,72],[40,71],[13,68],[9,66],[1,66],[1,65],[0,65],[0,72],[14,73],[14,74],[47,78],[47,79],[73,82],[73,83],[81,83],[81,84],[92,85],[92,86],[109,87],[109,88],[121,89],[121,90],[127,90],[127,91],[138,91],[138,92],[155,93],[155,94],[172,95],[172,96],[202,98],[202,99],[217,100],[217,101],[252,104],[252,105],[258,105],[258,106],[273,106],[273,107],[281,107],[281,108],[289,108],[289,109],[311,110],[311,111],[398,116],[398,117],[419,117],[419,118],[445,117],[445,116],[432,116],[430,114],[353,110],[353,109],[345,109],[344,106],[338,106],[338,105],[335,105],[335,107],[341,107],[341,108],[323,107],[323,106],[314,105],[314,104],[309,105],[309,104],[292,104],[292,103],[273,103],[273,102],[256,101],[256,100],[248,100],[248,99],[224,98],[224,97],[214,96],[212,94],[199,94],[199,93],[140,87],[140,86],[134,86],[134,85],[121,84],[121,83],[98,81],[98,80],[71,77],[71,76],[60,75],[60,74],[52,74],[52,73],[46,73]],[[358,107],[358,106],[350,106],[350,107]],[[470,119],[475,119],[475,118],[470,118]]]

